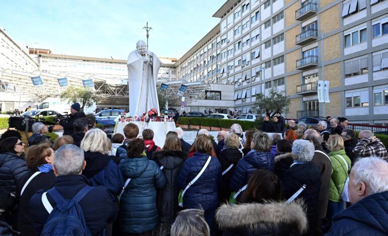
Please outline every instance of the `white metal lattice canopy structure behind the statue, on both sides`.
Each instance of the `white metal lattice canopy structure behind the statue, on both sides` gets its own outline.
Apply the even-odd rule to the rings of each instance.
[[[35,76],[40,76],[43,85],[34,86],[31,77]],[[60,78],[67,78],[68,86],[75,87],[83,87],[83,80],[92,79],[94,82],[93,92],[98,98],[97,105],[125,106],[129,104],[131,91],[128,88],[127,79],[105,78],[89,73],[80,76],[67,72],[51,74],[39,70],[25,72],[5,69],[0,71],[0,91],[17,94],[33,102],[41,102],[47,97],[58,97],[67,88],[59,86],[58,79]],[[156,81],[157,87],[160,87],[161,83],[169,85],[163,94],[170,106],[179,106],[181,96],[178,95],[178,91],[181,84],[187,86],[183,96],[188,103],[204,99],[207,92],[211,90],[211,85],[204,81],[188,83],[185,80],[158,79]]]

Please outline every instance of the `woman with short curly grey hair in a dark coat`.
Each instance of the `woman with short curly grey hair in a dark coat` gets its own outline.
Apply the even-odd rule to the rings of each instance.
[[[282,178],[282,195],[288,199],[298,190],[297,196],[307,206],[308,231],[304,235],[315,235],[318,223],[317,199],[321,184],[318,167],[311,162],[314,156],[314,145],[306,140],[295,140],[292,146],[294,163],[285,171]]]

